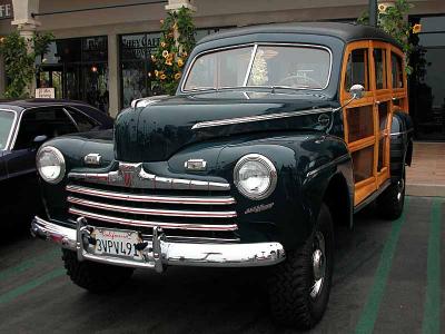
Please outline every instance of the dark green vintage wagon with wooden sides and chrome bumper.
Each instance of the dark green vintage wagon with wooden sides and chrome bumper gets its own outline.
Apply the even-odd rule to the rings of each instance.
[[[207,37],[175,97],[135,101],[113,137],[42,146],[50,219],[32,232],[60,243],[68,275],[93,292],[134,268],[269,266],[258,279],[274,318],[312,327],[329,299],[333,224],[353,226],[374,200],[387,218],[403,210],[404,69],[400,46],[370,27]]]

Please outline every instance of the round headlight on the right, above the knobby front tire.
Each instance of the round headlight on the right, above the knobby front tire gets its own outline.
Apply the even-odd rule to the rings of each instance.
[[[264,199],[275,190],[277,170],[265,156],[250,154],[236,164],[234,180],[244,196],[250,199]]]

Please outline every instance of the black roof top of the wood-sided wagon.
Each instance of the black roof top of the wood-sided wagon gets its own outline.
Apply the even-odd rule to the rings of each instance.
[[[398,48],[400,45],[388,33],[382,29],[340,22],[291,22],[291,23],[269,23],[249,26],[244,28],[236,28],[225,30],[222,32],[214,33],[202,38],[198,45],[215,41],[218,39],[241,37],[255,33],[299,33],[299,35],[318,35],[336,37],[344,42],[352,42],[356,40],[382,40],[389,42]]]

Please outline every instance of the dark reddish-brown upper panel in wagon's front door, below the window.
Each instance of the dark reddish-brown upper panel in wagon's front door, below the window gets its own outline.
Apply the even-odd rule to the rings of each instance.
[[[374,135],[373,106],[363,106],[347,110],[349,143]]]

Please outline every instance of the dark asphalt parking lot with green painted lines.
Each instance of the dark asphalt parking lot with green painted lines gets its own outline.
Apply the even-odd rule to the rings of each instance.
[[[330,303],[313,332],[439,333],[444,204],[411,197],[398,220],[380,220],[370,208],[353,232],[336,230]],[[139,271],[97,296],[70,283],[51,244],[3,236],[0,333],[293,333],[270,322],[261,277],[261,269]]]

